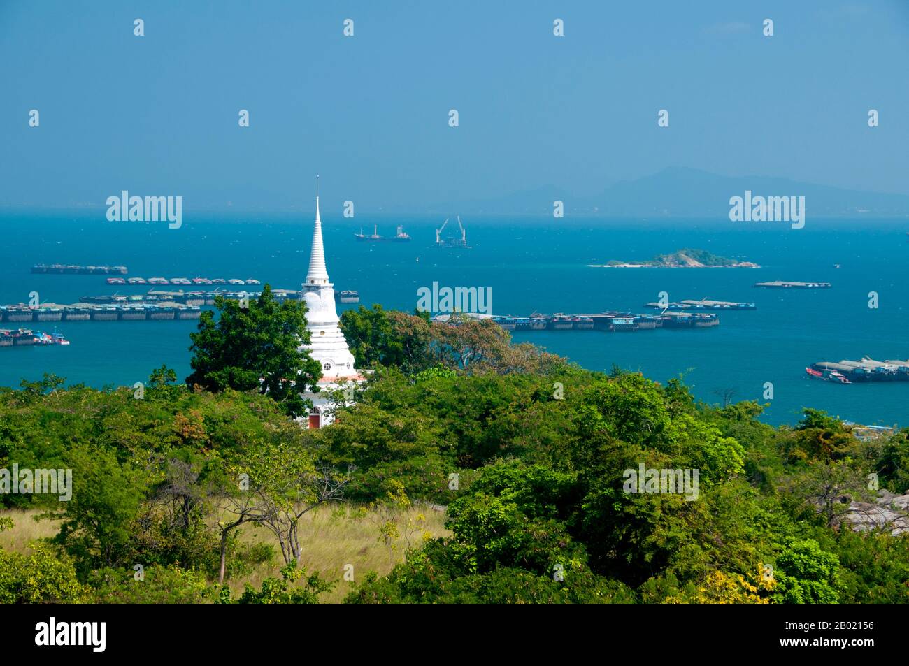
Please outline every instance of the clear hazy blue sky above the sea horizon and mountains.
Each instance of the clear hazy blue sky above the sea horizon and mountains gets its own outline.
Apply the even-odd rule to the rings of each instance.
[[[667,166],[909,194],[907,64],[900,0],[0,0],[0,204],[308,210],[320,173],[406,211]]]

